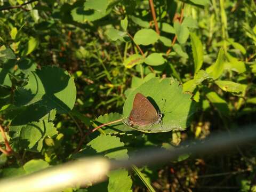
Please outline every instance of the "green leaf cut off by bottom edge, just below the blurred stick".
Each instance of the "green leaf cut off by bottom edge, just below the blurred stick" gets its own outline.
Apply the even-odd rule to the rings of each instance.
[[[108,174],[108,191],[132,192],[132,179],[127,170],[118,169]]]

